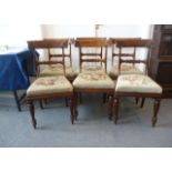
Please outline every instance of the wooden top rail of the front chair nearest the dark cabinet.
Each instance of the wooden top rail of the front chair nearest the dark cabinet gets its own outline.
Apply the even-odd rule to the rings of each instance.
[[[150,39],[142,39],[142,40],[119,40],[117,42],[118,48],[144,48],[144,47],[151,47],[152,45],[152,40]]]

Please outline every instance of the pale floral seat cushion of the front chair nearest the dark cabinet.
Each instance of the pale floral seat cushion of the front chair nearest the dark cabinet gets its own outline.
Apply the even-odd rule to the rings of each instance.
[[[148,75],[125,74],[117,80],[115,92],[162,93],[162,88]]]

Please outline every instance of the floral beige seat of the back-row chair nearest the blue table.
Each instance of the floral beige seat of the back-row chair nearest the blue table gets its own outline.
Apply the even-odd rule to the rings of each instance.
[[[63,74],[64,72],[62,64],[48,65],[40,72],[40,77],[63,75]],[[77,77],[77,72],[74,72],[71,67],[65,67],[65,77],[74,78]]]

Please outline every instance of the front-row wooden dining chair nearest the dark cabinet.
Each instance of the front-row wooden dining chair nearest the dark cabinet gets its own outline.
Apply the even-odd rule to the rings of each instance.
[[[119,71],[121,72],[122,63],[143,63],[145,65],[145,71],[149,73],[149,60],[150,60],[150,49],[153,42],[149,39],[141,39],[134,41],[121,41],[117,43],[119,48],[135,48],[139,51],[135,59],[125,60],[119,59]],[[144,49],[144,51],[143,51]],[[136,54],[136,53],[135,53]],[[142,57],[146,54],[146,58]],[[141,58],[140,58],[141,57]],[[117,85],[114,89],[114,101],[113,101],[113,121],[117,124],[119,119],[119,104],[122,97],[134,97],[134,98],[152,98],[154,99],[154,108],[152,115],[152,127],[155,125],[158,121],[158,111],[160,108],[160,100],[162,95],[162,88],[148,74],[131,73],[121,74],[117,79]],[[111,113],[112,114],[112,113]]]

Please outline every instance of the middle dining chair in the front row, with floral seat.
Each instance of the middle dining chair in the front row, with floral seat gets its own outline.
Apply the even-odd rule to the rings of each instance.
[[[112,97],[114,92],[114,81],[107,74],[107,45],[105,38],[75,40],[75,47],[79,49],[80,68],[80,73],[73,81],[77,98],[81,93],[105,93]],[[85,67],[88,67],[87,70]],[[92,67],[91,70],[89,67]],[[112,101],[109,101],[111,109]]]

